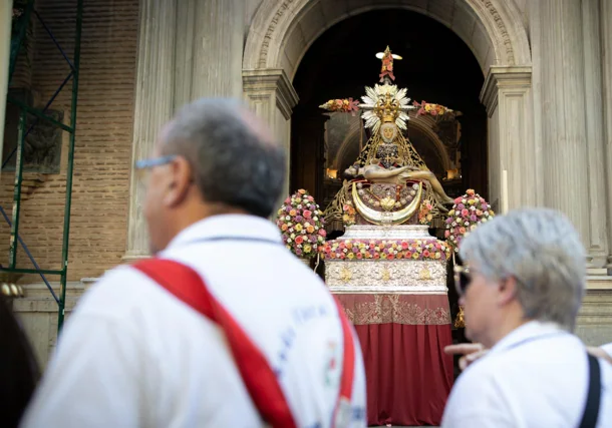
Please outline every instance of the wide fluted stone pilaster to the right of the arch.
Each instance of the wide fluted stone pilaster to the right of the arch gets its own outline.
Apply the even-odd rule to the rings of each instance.
[[[580,0],[539,0],[529,13],[535,139],[542,141],[543,203],[567,215],[591,249],[589,149]]]

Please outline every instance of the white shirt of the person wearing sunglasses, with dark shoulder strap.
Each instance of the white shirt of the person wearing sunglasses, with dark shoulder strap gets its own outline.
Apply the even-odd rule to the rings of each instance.
[[[612,364],[599,360],[598,427],[612,426]],[[551,323],[512,331],[459,376],[443,428],[578,427],[586,405],[589,365],[583,343]]]

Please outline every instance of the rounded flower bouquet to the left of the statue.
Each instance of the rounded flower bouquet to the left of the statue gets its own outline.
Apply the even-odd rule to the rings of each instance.
[[[316,257],[319,246],[325,242],[323,212],[315,198],[304,189],[285,199],[285,204],[278,210],[276,224],[285,246],[302,259]]]

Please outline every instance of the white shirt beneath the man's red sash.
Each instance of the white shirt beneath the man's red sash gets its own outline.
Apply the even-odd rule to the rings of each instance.
[[[277,372],[298,426],[330,426],[343,357],[338,309],[323,281],[284,248],[274,224],[214,216],[182,231],[160,257],[201,274]],[[351,426],[365,427],[355,335],[354,346]],[[23,421],[111,426],[263,426],[223,332],[127,266],[81,299]]]

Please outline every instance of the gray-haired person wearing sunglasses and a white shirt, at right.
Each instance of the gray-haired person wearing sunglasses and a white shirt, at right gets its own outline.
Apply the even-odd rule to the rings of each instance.
[[[466,336],[489,350],[458,378],[442,427],[612,426],[612,365],[572,334],[586,254],[569,220],[513,211],[466,237],[460,256]]]

